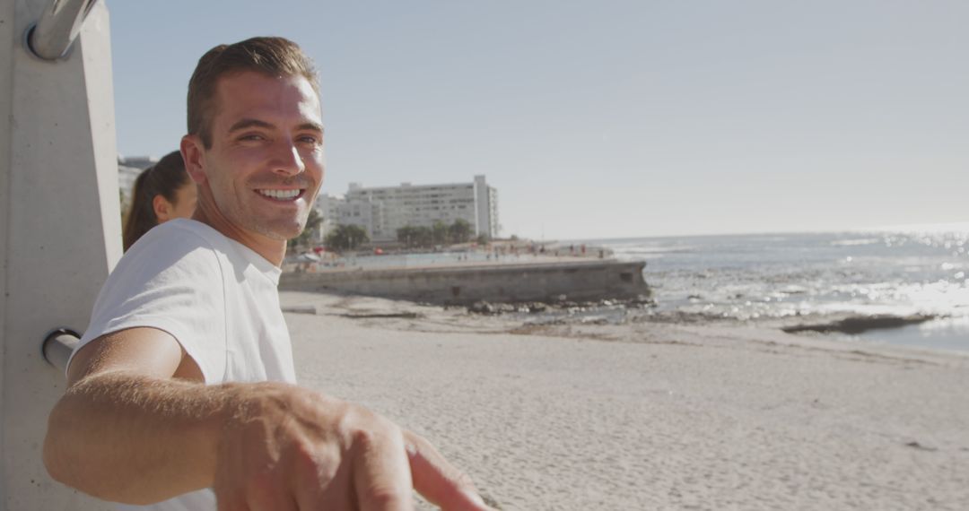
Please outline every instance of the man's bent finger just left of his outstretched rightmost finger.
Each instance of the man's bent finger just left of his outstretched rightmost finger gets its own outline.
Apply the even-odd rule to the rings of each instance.
[[[354,436],[354,489],[360,511],[411,511],[411,470],[399,430]]]

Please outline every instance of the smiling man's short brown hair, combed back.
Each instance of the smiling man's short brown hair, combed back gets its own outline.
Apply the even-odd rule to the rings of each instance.
[[[218,45],[205,52],[188,82],[188,133],[212,146],[215,86],[219,78],[255,71],[269,76],[302,76],[320,94],[313,62],[294,42],[278,37],[257,37],[234,45]]]

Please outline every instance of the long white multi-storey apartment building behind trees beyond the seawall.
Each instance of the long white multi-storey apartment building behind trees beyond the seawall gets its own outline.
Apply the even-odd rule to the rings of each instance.
[[[317,209],[329,228],[360,225],[375,242],[395,241],[397,229],[406,225],[451,225],[458,219],[470,224],[475,236],[497,237],[500,228],[498,192],[487,185],[484,175],[475,176],[471,183],[440,185],[364,188],[351,183],[343,198],[321,196]]]

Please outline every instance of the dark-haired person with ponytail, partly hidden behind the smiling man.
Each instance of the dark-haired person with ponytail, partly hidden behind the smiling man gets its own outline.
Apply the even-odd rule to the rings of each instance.
[[[151,227],[192,218],[199,192],[185,171],[180,151],[172,151],[141,171],[135,180],[122,241],[125,252]]]

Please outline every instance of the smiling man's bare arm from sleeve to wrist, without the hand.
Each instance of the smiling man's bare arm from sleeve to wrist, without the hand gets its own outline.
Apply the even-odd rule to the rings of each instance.
[[[172,336],[154,328],[122,330],[82,347],[47,421],[50,475],[130,503],[210,486],[205,477],[215,455],[208,445],[228,412],[228,392],[206,389],[200,376]]]

